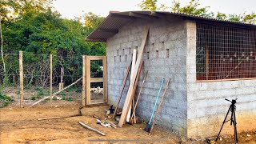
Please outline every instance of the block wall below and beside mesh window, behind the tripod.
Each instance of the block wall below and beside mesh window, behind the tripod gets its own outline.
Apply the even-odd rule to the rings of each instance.
[[[231,104],[225,98],[238,98],[238,132],[256,129],[256,80],[196,82],[196,22],[186,21],[186,29],[187,136],[217,135]],[[222,134],[234,134],[230,122]]]

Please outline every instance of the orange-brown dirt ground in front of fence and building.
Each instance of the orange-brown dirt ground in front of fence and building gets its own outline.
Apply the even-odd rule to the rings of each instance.
[[[106,118],[108,106],[90,106],[82,109],[82,116],[38,121],[38,118],[61,117],[78,114],[79,103],[70,106],[37,106],[18,108],[8,106],[0,109],[0,143],[206,143],[205,139],[191,140],[181,138],[177,134],[154,127],[153,134],[147,134],[143,129],[145,123],[126,124],[122,128],[103,127],[96,124],[96,114]],[[112,118],[107,120],[114,122]],[[87,125],[102,131],[106,136],[88,130],[78,124]],[[116,142],[113,139],[134,139],[134,142]],[[106,141],[95,141],[106,140]],[[155,140],[148,141],[148,140]],[[161,140],[161,141],[159,141]],[[239,143],[256,143],[256,130],[239,134]],[[157,142],[158,141],[158,142]],[[234,143],[230,136],[222,136],[217,143]]]

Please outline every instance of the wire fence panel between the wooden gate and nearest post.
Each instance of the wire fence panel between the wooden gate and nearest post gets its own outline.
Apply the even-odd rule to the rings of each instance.
[[[55,106],[81,104],[82,56],[54,55],[53,94]]]

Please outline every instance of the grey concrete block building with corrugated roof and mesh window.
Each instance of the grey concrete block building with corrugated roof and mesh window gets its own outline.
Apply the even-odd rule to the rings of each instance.
[[[116,104],[133,50],[150,27],[136,114],[149,119],[162,78],[170,86],[157,124],[188,138],[218,134],[237,100],[238,132],[256,129],[256,26],[152,11],[110,12],[86,41],[106,42],[108,103]],[[128,88],[128,82],[125,93]],[[123,94],[123,97],[126,94]],[[119,105],[122,108],[125,98]],[[226,124],[223,134],[234,134]]]

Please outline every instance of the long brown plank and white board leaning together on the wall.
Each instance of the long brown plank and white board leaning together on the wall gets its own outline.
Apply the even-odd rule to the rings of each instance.
[[[129,85],[128,92],[126,94],[126,101],[122,108],[122,115],[121,115],[120,121],[118,123],[119,127],[123,126],[123,124],[126,122],[126,119],[128,121],[130,120],[130,114],[129,114],[128,118],[127,118],[127,115],[131,111],[130,109],[131,109],[131,105],[132,105],[132,100],[134,99],[134,95],[135,95],[136,88],[138,85],[139,75],[142,70],[142,65],[143,65],[142,54],[145,49],[148,33],[149,33],[149,27],[146,27],[145,34],[143,35],[144,38],[142,39],[142,44],[140,46],[140,50],[138,51],[137,59],[136,59],[137,51],[134,50],[133,61],[132,61],[132,66],[131,66],[131,74],[130,74],[130,85]]]

